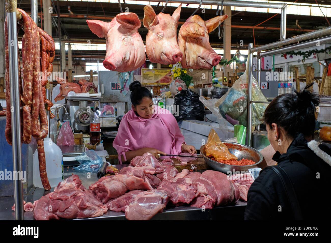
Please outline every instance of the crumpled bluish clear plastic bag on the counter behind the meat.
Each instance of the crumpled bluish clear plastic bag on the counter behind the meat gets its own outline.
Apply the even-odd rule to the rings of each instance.
[[[103,164],[102,158],[96,154],[93,149],[87,150],[85,153],[75,157],[80,165],[74,167],[75,170],[81,170],[85,172],[97,173],[99,167]]]

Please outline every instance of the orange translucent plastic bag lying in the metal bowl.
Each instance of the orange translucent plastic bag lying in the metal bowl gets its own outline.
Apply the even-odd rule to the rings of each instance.
[[[206,155],[212,155],[217,161],[238,159],[235,155],[231,154],[227,146],[220,141],[214,129],[211,129],[209,132],[208,141],[205,145],[205,149]]]

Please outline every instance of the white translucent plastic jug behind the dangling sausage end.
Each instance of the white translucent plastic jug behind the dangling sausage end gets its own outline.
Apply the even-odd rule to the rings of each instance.
[[[51,187],[56,187],[59,182],[62,182],[63,178],[63,159],[62,151],[56,143],[50,138],[44,139],[44,150],[46,158],[46,173],[49,184]],[[44,188],[41,183],[39,173],[39,160],[38,151],[34,151],[32,159],[32,171],[33,171],[33,185],[35,187]]]

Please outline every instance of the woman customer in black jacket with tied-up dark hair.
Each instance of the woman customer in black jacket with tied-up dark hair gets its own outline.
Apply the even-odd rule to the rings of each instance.
[[[288,174],[299,206],[293,209],[280,177],[270,167],[260,172],[248,191],[245,220],[330,218],[328,205],[331,150],[313,140],[318,95],[308,85],[301,92],[277,96],[264,112],[273,160]]]

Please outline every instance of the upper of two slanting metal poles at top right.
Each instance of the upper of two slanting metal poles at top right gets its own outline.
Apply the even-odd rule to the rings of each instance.
[[[285,46],[285,45],[292,44],[292,43],[295,43],[295,42],[316,38],[316,37],[319,37],[319,36],[322,36],[322,35],[330,35],[330,34],[331,34],[331,26],[326,27],[326,28],[322,28],[322,29],[319,29],[319,30],[316,30],[316,31],[312,31],[312,32],[309,32],[309,33],[305,33],[305,34],[302,34],[302,35],[298,35],[298,36],[295,36],[295,37],[292,37],[292,38],[288,38],[288,39],[285,39],[285,40],[276,41],[276,42],[269,43],[269,44],[266,44],[266,45],[263,45],[263,46],[258,46],[258,47],[252,48],[251,52],[254,53],[254,52],[258,52],[258,51],[264,51],[264,50],[268,50],[268,49],[271,49],[271,48]]]

